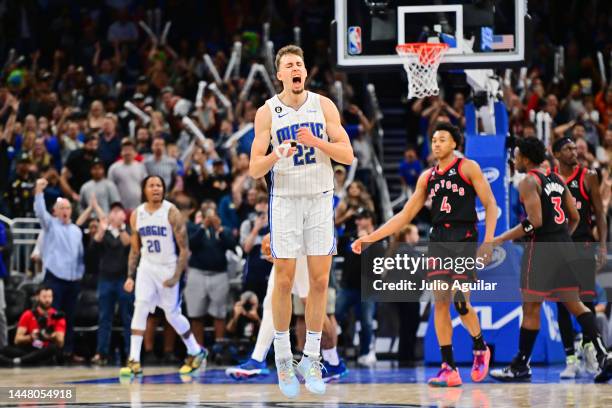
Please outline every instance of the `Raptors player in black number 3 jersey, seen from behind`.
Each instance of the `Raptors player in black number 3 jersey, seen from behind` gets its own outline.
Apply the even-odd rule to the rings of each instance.
[[[567,310],[576,316],[586,341],[592,342],[597,352],[600,372],[595,382],[606,382],[612,378],[612,358],[597,331],[595,315],[580,301],[577,276],[580,271],[573,266],[576,256],[570,234],[575,231],[580,215],[563,180],[541,168],[545,152],[544,144],[534,137],[519,140],[514,150],[516,169],[527,173],[518,187],[527,218],[496,237],[494,244],[524,236],[531,238],[521,267],[523,320],[518,354],[508,367],[492,370],[491,376],[500,381],[531,380],[529,359],[540,330],[540,307],[545,297],[551,297],[561,299]],[[554,254],[550,249],[555,249]]]

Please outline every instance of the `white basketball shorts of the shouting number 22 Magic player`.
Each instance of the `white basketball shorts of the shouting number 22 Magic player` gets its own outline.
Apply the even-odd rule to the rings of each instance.
[[[270,247],[274,258],[335,255],[334,191],[270,196]]]

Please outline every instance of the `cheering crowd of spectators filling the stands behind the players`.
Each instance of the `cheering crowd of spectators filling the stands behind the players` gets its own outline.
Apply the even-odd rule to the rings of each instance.
[[[261,29],[265,21],[270,21],[270,40],[277,48],[293,42],[293,25],[300,25],[309,69],[307,88],[332,96],[334,81],[339,80],[348,101],[342,113],[358,158],[354,179],[348,179],[347,185],[349,169],[334,167],[338,250],[345,259],[339,273],[336,311],[339,323],[344,324],[347,312],[360,302],[359,282],[349,273],[359,269],[348,250],[351,239],[375,228],[381,219],[373,188],[375,150],[369,140],[373,115],[364,113],[368,111],[366,103],[359,98],[359,89],[353,88],[354,82],[349,83],[347,75],[335,72],[329,63],[328,23],[333,2],[269,1],[262,7],[255,1],[165,2],[162,12],[156,11],[157,2],[65,3],[0,1],[0,6],[6,5],[0,7],[0,214],[40,220],[41,235],[46,238],[39,239],[37,259],[42,259],[46,286],[37,295],[44,301],[37,304],[62,306],[56,308],[64,313],[61,320],[65,322],[57,323],[57,331],[65,331],[66,336],[58,335],[61,342],[55,344],[63,346],[72,361],[82,361],[80,357],[87,354],[93,363],[106,364],[114,353],[111,326],[119,325],[126,341],[118,349],[126,352],[133,307],[133,297],[122,289],[127,270],[123,260],[131,234],[126,220],[141,203],[140,183],[150,174],[164,179],[167,199],[189,219],[192,255],[183,297],[196,338],[200,343],[219,344],[213,348],[219,353],[227,338],[252,340],[271,269],[261,256],[261,241],[269,232],[268,190],[265,180],[248,176],[253,131],[246,131],[240,139],[232,136],[248,129],[257,108],[271,96],[265,81],[258,77],[250,91],[243,92],[251,64],[265,64]],[[557,29],[553,37],[545,37],[549,26],[557,27],[558,23],[553,24],[553,16],[544,11],[535,5],[534,16],[539,19],[536,37],[541,46],[528,75],[519,79],[515,72],[512,82],[504,87],[511,136],[537,137],[531,112],[547,112],[552,118],[549,146],[559,135],[576,139],[581,163],[600,175],[608,211],[612,86],[599,73],[595,57],[597,50],[610,54],[612,43],[606,42],[605,36],[600,38],[610,31],[608,18],[605,13],[598,15],[596,8],[585,7],[583,17],[593,24],[581,27],[592,30],[591,35]],[[150,24],[155,36],[147,35],[139,21]],[[166,41],[161,31],[170,21]],[[239,72],[217,84],[221,97],[210,88],[200,94],[200,81],[215,83],[202,55],[210,55],[223,76],[234,41],[242,42]],[[593,43],[586,46],[587,42]],[[552,66],[553,46],[557,45],[566,46],[560,76],[554,75]],[[269,74],[274,81],[273,72]],[[421,171],[432,164],[427,148],[431,129],[440,121],[462,127],[468,96],[453,91],[410,104],[408,147],[400,164],[401,180],[408,188],[414,187]],[[131,113],[125,102],[131,102],[145,116]],[[195,123],[205,140],[194,135],[184,117]],[[41,191],[36,195],[39,179],[45,182],[38,183]],[[48,242],[55,232],[48,225],[60,223],[74,227],[75,236],[82,238],[82,253],[71,248],[74,259],[60,256],[58,260],[74,260],[73,276],[57,276],[69,271],[54,270],[51,257],[57,254],[49,255],[53,248]],[[4,231],[8,229],[5,224],[0,229],[5,261],[10,254],[6,243],[10,231]],[[409,226],[396,240],[414,244],[418,231]],[[66,252],[60,254],[67,256]],[[8,277],[8,264],[2,269],[3,265],[0,277]],[[30,278],[36,274],[35,269],[18,272]],[[81,301],[79,291],[84,290],[88,276],[95,277],[99,317],[94,323],[99,330],[96,348],[84,353],[73,343],[72,330],[79,313],[75,310],[77,299]],[[236,281],[237,288],[232,286]],[[4,293],[3,287],[0,291]],[[4,299],[0,300],[2,308]],[[114,312],[116,304],[118,313]],[[375,362],[370,353],[375,306],[366,302],[360,306],[362,344],[358,355],[360,362],[369,365]],[[415,315],[418,321],[418,310],[404,314]],[[150,316],[144,351],[150,359],[159,357],[173,363],[176,338],[167,324],[163,353],[154,355],[156,328],[164,325],[163,320],[159,311]],[[402,325],[408,333],[415,333],[416,327],[408,327],[411,321],[415,319]],[[209,337],[205,337],[205,326],[213,327]],[[18,327],[26,325],[20,320]],[[7,342],[1,329],[0,321],[0,347],[13,341],[10,338]],[[18,332],[20,341],[25,342],[23,336],[27,335],[30,343],[39,339],[31,331]],[[408,335],[404,345],[400,344],[402,358],[408,361],[415,358],[413,337]],[[47,338],[42,341],[50,344]],[[0,354],[6,360],[0,363],[23,361],[23,353],[14,350]]]

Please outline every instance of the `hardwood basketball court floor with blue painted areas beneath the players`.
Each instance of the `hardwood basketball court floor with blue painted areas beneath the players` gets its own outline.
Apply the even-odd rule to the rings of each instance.
[[[142,378],[124,383],[116,367],[0,369],[0,386],[74,386],[77,402],[63,405],[68,407],[612,407],[612,384],[596,385],[586,379],[560,382],[560,370],[534,367],[531,384],[490,379],[472,384],[469,368],[464,367],[460,369],[463,387],[433,389],[424,382],[435,373],[434,367],[354,368],[341,382],[330,384],[324,396],[302,387],[293,401],[280,394],[274,374],[234,382],[216,367],[184,378],[171,367],[146,367]]]

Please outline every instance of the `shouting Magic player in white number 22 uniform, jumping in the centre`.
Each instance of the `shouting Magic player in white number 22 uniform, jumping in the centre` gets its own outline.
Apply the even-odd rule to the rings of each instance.
[[[353,149],[333,102],[304,89],[307,72],[302,49],[294,45],[281,48],[275,64],[283,91],[257,110],[249,175],[260,178],[271,173],[274,351],[281,392],[294,398],[300,390],[296,369],[310,392],[325,392],[321,331],[331,258],[336,253],[331,159],[350,164]],[[266,154],[270,144],[272,151]],[[308,257],[310,290],[304,357],[294,368],[289,341],[291,288],[296,258],[302,253]]]

